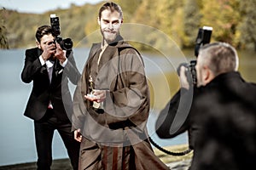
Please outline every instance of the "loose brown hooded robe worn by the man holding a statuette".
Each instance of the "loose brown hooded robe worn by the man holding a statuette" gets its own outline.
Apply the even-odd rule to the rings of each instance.
[[[98,62],[99,61],[99,62]],[[84,99],[107,90],[101,104]],[[80,169],[169,169],[148,141],[150,101],[143,59],[123,38],[90,49],[74,94],[73,127],[83,135]]]

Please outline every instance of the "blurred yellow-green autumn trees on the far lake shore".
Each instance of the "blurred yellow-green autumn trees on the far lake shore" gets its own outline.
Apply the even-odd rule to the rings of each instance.
[[[124,11],[125,23],[152,26],[172,38],[180,48],[193,48],[197,31],[212,26],[212,42],[230,42],[240,49],[256,51],[256,0],[115,0]],[[102,2],[103,3],[103,2]],[[72,4],[44,14],[24,14],[1,9],[1,48],[27,48],[35,44],[38,26],[49,25],[49,14],[61,20],[61,37],[74,44],[98,29],[97,12],[102,3]],[[132,34],[132,32],[131,32]],[[154,43],[165,44],[154,37]],[[5,45],[4,45],[5,44]]]

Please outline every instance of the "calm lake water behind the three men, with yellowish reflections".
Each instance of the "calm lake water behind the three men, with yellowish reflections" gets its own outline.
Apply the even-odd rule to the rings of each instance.
[[[37,160],[33,122],[23,116],[26,102],[32,89],[32,83],[21,82],[20,73],[24,65],[25,49],[0,51],[0,166],[24,163]],[[89,49],[75,48],[75,60],[79,71],[83,70]],[[188,52],[188,55],[193,53]],[[241,53],[240,71],[249,82],[256,82],[256,57],[253,53]],[[169,59],[143,54],[145,69],[150,82],[152,108],[148,119],[148,133],[161,146],[173,144],[187,144],[187,133],[173,139],[159,139],[154,133],[154,122],[157,113],[162,109],[172,94],[177,91],[179,82],[175,72],[175,65],[183,62],[180,56]],[[166,73],[168,76],[166,76]],[[70,90],[73,92],[74,86]],[[53,141],[53,158],[67,158],[67,152],[58,133]]]

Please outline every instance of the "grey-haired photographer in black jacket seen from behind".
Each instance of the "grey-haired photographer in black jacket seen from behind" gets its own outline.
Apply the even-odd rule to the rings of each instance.
[[[175,94],[160,112],[156,122],[160,138],[189,131],[189,147],[194,150],[191,170],[255,166],[256,84],[245,82],[237,68],[236,49],[230,44],[215,42],[203,46],[195,65],[197,87],[189,86],[186,68],[182,66],[183,93]],[[190,109],[186,103],[189,98]]]

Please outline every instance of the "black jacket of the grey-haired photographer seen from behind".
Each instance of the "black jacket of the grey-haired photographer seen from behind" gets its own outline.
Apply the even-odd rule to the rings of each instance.
[[[161,138],[172,138],[189,131],[189,146],[194,149],[191,170],[254,167],[256,85],[245,82],[238,72],[229,72],[215,77],[205,87],[195,88],[193,97],[189,115],[173,131],[174,117],[181,114],[177,111],[180,97],[176,94],[166,106],[169,109],[160,112],[156,133]],[[174,124],[178,127],[179,122]]]

